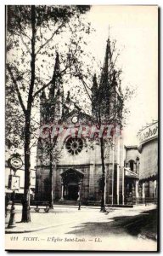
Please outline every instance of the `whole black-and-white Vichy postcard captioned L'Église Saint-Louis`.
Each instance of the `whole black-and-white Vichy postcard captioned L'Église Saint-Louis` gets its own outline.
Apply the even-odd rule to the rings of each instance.
[[[5,11],[5,249],[158,251],[158,6]]]

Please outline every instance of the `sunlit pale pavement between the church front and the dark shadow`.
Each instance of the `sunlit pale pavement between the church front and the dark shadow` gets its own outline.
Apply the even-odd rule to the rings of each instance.
[[[118,216],[134,216],[139,212],[145,212],[155,209],[155,205],[141,205],[134,206],[133,208],[118,208],[118,207],[107,207],[108,212],[100,212],[100,207],[82,207],[81,211],[78,211],[76,206],[60,206],[54,205],[53,209],[48,213],[43,212],[31,212],[31,222],[21,223],[21,206],[15,206],[15,221],[16,226],[12,229],[8,229],[8,219],[10,213],[8,212],[5,224],[5,233],[26,233],[34,232],[37,230],[45,230],[52,227],[59,227],[60,225],[70,224],[74,221],[84,222],[87,218],[92,221],[98,222],[108,222],[109,218],[114,218]]]

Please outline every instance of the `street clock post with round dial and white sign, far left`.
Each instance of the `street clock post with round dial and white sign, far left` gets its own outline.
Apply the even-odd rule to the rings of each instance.
[[[15,198],[15,190],[20,189],[20,177],[16,176],[16,171],[20,169],[23,165],[22,160],[20,159],[20,154],[13,154],[11,158],[8,159],[8,166],[13,170],[14,175],[10,174],[8,177],[8,189],[13,190],[12,195],[12,206],[10,210],[10,218],[8,222],[8,229],[13,229],[15,224],[15,207],[14,207],[14,198]]]

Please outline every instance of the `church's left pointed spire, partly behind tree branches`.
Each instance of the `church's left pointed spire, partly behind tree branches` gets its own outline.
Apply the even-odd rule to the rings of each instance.
[[[62,90],[62,78],[60,75],[60,65],[59,65],[59,53],[56,52],[56,58],[55,58],[55,65],[53,68],[53,78],[52,78],[52,84],[49,89],[49,98],[53,98],[55,95],[55,90],[56,89]]]

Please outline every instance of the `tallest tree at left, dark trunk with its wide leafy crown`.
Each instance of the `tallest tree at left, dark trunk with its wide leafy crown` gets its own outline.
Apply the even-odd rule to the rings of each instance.
[[[18,133],[24,144],[25,187],[22,222],[30,222],[31,137],[33,108],[42,90],[55,81],[50,73],[53,55],[59,49],[63,33],[69,35],[61,54],[62,75],[73,75],[74,67],[82,65],[83,34],[90,32],[83,21],[89,6],[8,6],[7,7],[7,134],[8,127]],[[76,33],[79,32],[79,33]],[[58,41],[57,41],[58,38]],[[12,90],[12,93],[9,93]],[[14,102],[12,101],[12,97]],[[14,113],[12,113],[12,109]],[[18,114],[17,114],[18,113]],[[11,115],[11,124],[8,116]],[[19,117],[19,131],[17,130]],[[15,129],[14,129],[14,125]],[[12,127],[11,127],[12,126]],[[18,130],[19,130],[18,129]],[[17,132],[17,133],[15,133]],[[14,144],[11,137],[9,144]]]

